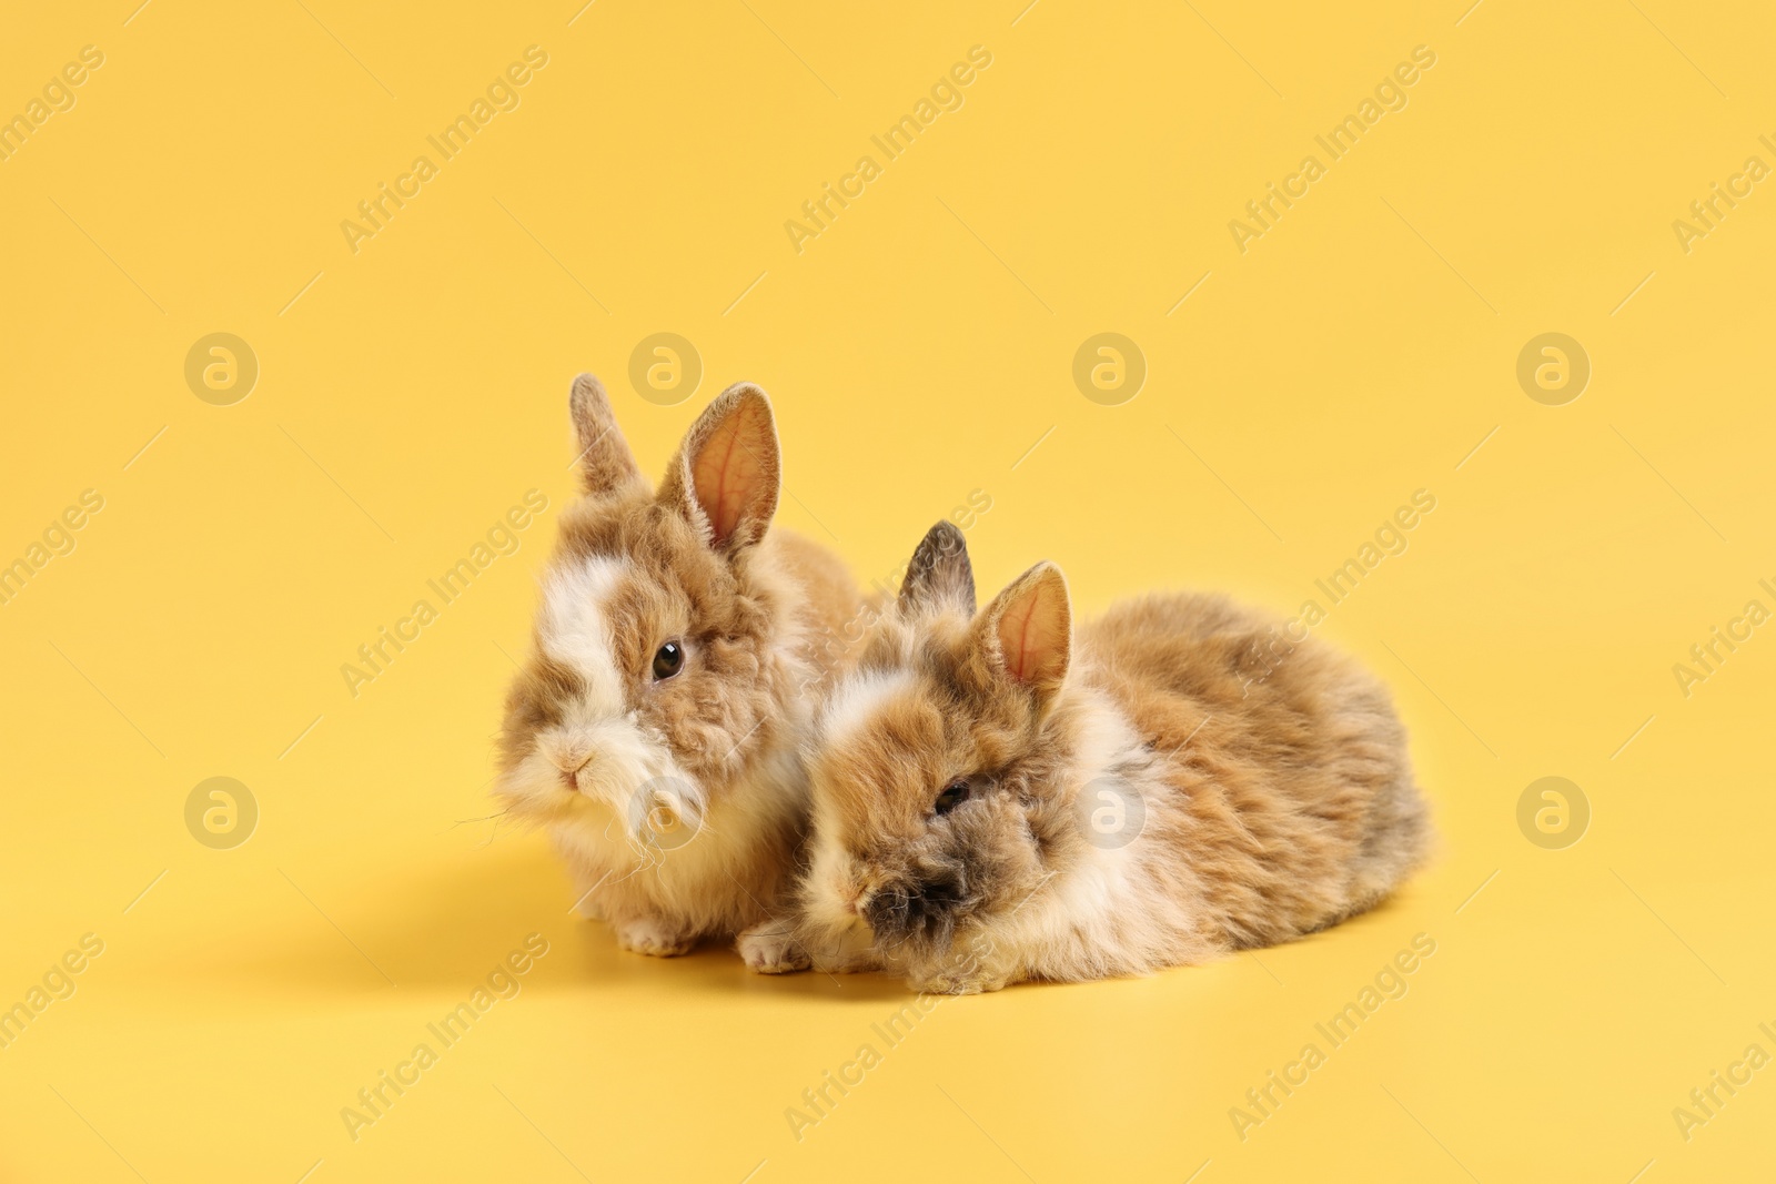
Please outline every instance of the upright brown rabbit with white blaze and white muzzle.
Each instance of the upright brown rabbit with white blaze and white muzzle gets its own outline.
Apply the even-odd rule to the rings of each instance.
[[[771,401],[749,383],[691,426],[655,492],[604,387],[570,394],[584,495],[559,520],[533,648],[506,698],[496,795],[545,825],[583,914],[627,950],[741,935],[780,962],[806,829],[801,758],[858,591],[826,549],[769,529]]]

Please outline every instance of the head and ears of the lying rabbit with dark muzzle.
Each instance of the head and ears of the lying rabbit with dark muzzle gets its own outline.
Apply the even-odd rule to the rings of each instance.
[[[810,948],[867,925],[888,966],[950,959],[1053,875],[1071,632],[1058,568],[1030,568],[977,612],[961,531],[931,529],[817,724]]]

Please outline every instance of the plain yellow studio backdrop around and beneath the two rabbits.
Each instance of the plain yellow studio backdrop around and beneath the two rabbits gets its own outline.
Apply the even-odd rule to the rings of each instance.
[[[1776,628],[1687,698],[1671,667],[1776,607],[1776,193],[1687,254],[1671,222],[1776,163],[1776,21],[1021,4],[7,18],[0,114],[83,44],[105,66],[0,163],[0,559],[82,490],[105,509],[0,607],[0,1005],[82,934],[105,953],[0,1051],[0,1177],[1767,1170],[1776,1069],[1687,1141],[1671,1111],[1776,1053]],[[353,254],[339,222],[529,44],[522,105]],[[785,220],[975,44],[964,107],[797,254]],[[1227,222],[1419,44],[1408,107],[1241,254]],[[233,407],[183,376],[211,332],[259,360]],[[703,360],[675,407],[627,380],[655,332]],[[1074,387],[1098,332],[1138,343],[1133,401]],[[1543,332],[1591,359],[1565,407],[1515,378]],[[780,522],[863,582],[984,490],[982,588],[1050,557],[1087,612],[1186,586],[1293,612],[1431,490],[1320,634],[1394,687],[1439,861],[1257,957],[945,1001],[797,1141],[785,1109],[908,996],[616,953],[542,840],[487,818],[581,369],[654,472],[716,391],[762,383]],[[551,511],[522,549],[348,694],[341,664],[529,488]],[[234,850],[185,827],[211,776],[259,804]],[[1591,806],[1565,850],[1517,825],[1542,776]],[[531,932],[522,994],[348,1138],[339,1109]],[[1421,932],[1410,992],[1241,1140],[1229,1108]]]

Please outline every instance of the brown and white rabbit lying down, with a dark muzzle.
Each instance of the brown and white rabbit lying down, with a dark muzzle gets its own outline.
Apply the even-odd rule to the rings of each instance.
[[[1300,937],[1382,900],[1431,836],[1353,662],[1218,596],[1074,635],[1050,563],[977,614],[947,522],[828,701],[812,774],[801,944],[932,992]]]

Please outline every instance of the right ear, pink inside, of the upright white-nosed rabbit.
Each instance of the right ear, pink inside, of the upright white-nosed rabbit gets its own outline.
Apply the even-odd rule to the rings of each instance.
[[[677,508],[712,549],[733,556],[765,536],[781,481],[771,399],[741,382],[691,424],[666,470],[661,501]]]

